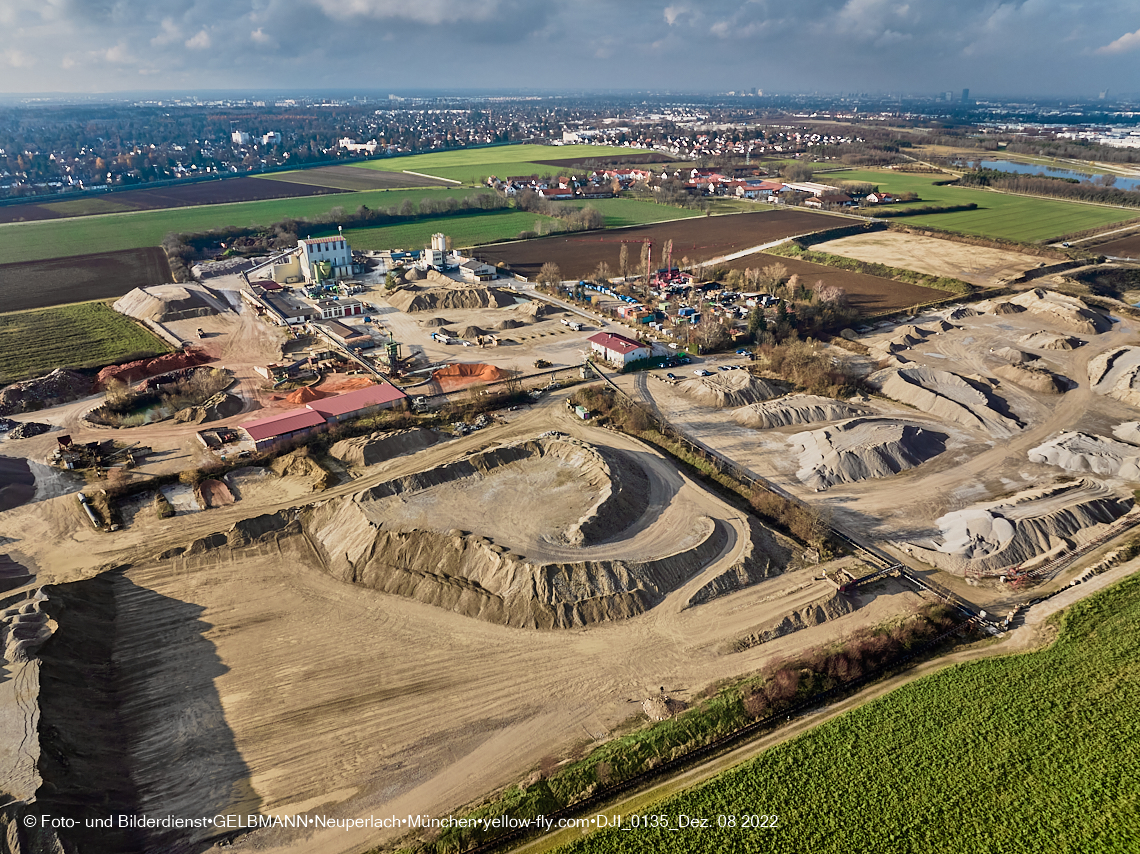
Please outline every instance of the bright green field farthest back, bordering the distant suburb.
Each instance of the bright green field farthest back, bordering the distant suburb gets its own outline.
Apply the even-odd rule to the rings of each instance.
[[[413,154],[391,160],[373,160],[358,164],[360,169],[381,172],[422,172],[477,184],[487,176],[507,178],[515,174],[557,174],[559,168],[539,163],[544,160],[576,161],[585,157],[612,157],[621,154],[645,154],[644,148],[614,148],[605,145],[504,145],[495,148],[465,148],[457,152]],[[565,170],[563,170],[565,171]]]

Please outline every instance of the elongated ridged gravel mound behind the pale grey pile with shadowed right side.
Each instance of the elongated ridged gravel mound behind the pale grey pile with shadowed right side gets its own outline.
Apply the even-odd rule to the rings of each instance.
[[[992,436],[1011,436],[1021,423],[1007,416],[1008,405],[983,382],[967,380],[948,371],[901,367],[879,371],[868,377],[883,395],[964,428]]]

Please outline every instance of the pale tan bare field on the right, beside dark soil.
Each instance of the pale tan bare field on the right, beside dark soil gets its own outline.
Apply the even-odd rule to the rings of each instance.
[[[840,237],[812,249],[931,276],[960,278],[974,285],[994,285],[999,279],[1018,276],[1041,263],[1041,259],[1019,252],[968,246],[901,231]]]

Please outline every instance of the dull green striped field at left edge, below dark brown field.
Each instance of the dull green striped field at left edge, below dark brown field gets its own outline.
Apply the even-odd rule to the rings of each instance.
[[[169,350],[105,302],[0,315],[0,385],[57,367],[99,367]]]

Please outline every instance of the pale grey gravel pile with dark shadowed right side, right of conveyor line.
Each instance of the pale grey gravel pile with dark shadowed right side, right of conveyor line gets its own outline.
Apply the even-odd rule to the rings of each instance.
[[[853,418],[790,437],[799,448],[796,477],[815,490],[888,478],[938,456],[945,433],[886,418]]]

